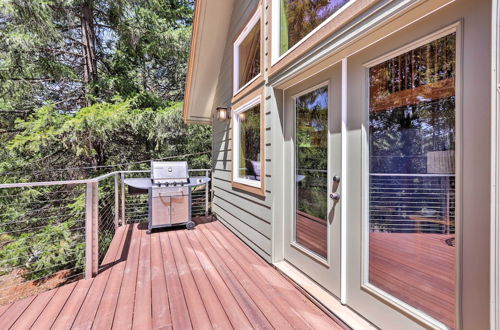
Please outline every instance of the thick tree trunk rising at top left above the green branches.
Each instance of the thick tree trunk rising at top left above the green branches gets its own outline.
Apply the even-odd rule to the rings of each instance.
[[[94,4],[93,0],[84,0],[81,5],[81,29],[83,47],[83,84],[86,105],[90,105],[88,95],[96,92],[97,58],[95,52]]]

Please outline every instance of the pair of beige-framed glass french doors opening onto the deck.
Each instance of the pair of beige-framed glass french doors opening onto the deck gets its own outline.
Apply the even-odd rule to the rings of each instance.
[[[477,4],[360,39],[284,92],[284,258],[382,329],[488,328],[490,13]]]

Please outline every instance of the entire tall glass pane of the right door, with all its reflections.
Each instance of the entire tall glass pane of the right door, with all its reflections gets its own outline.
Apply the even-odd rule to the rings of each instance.
[[[455,319],[455,34],[370,68],[372,284]]]

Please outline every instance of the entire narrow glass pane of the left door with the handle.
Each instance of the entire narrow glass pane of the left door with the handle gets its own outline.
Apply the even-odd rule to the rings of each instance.
[[[328,87],[296,99],[295,144],[295,240],[326,258]]]

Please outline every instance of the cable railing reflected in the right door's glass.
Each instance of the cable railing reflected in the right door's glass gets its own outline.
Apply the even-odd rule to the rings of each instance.
[[[370,174],[370,230],[455,233],[455,176]]]

